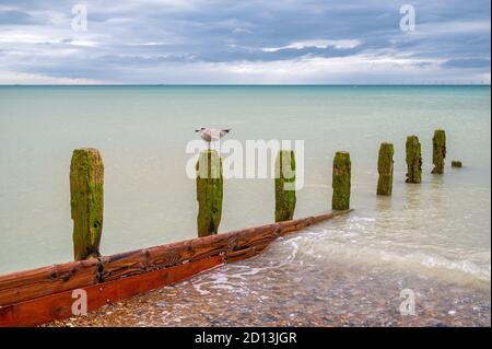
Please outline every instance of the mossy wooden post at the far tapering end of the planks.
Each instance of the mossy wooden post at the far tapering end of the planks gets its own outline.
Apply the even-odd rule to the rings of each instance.
[[[350,208],[351,167],[350,154],[345,151],[338,151],[333,159],[332,210],[341,211]]]

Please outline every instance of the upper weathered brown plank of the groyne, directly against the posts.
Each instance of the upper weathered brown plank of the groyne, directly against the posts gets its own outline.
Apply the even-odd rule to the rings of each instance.
[[[224,234],[137,249],[112,256],[0,276],[0,305],[9,305],[77,288],[248,249],[265,248],[278,236],[348,211],[248,228]],[[261,249],[262,249],[261,248]],[[247,255],[245,252],[243,255]]]

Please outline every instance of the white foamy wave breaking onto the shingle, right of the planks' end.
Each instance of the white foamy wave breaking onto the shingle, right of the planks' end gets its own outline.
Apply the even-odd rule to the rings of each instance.
[[[360,236],[352,233],[345,233],[343,237],[344,241],[337,241],[327,230],[320,232],[307,231],[280,241],[272,246],[272,249],[277,253],[288,249],[284,253],[289,254],[288,259],[290,260],[295,257],[302,261],[305,256],[308,256],[316,258],[316,264],[337,260],[351,266],[376,267],[378,270],[399,270],[458,283],[487,283],[490,288],[490,259],[489,263],[478,263],[477,260],[449,258],[429,252],[403,252],[400,245],[391,241],[382,241],[374,244],[368,241],[361,241]]]

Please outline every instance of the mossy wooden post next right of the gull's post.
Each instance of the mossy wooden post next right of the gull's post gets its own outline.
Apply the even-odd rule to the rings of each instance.
[[[276,222],[290,221],[295,210],[295,154],[280,150],[276,160]]]

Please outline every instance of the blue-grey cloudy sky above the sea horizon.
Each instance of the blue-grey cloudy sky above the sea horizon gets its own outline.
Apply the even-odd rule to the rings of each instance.
[[[1,0],[0,84],[490,84],[490,39],[489,0]]]

